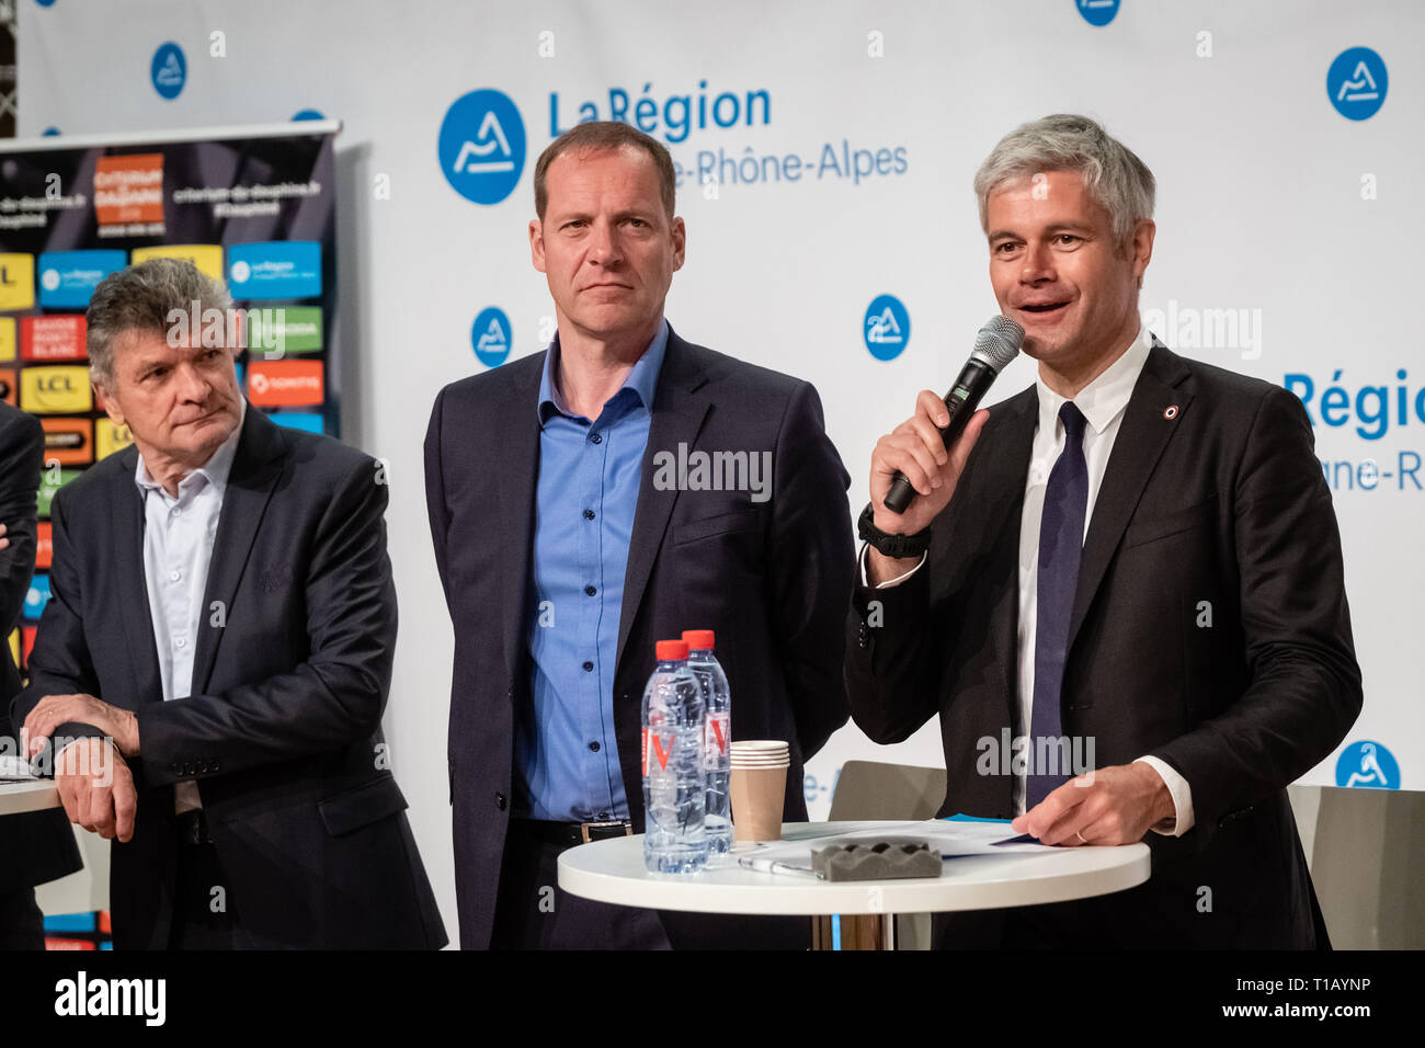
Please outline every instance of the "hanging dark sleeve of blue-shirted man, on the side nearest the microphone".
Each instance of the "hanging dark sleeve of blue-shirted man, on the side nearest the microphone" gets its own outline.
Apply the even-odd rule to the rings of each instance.
[[[772,481],[772,636],[805,760],[846,723],[841,620],[852,550],[851,478],[809,382],[797,385],[782,415]]]

